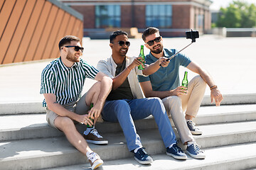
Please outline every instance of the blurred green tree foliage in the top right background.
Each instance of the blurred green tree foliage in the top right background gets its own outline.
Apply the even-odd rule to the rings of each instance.
[[[244,1],[233,1],[227,8],[220,8],[218,27],[252,28],[256,26],[256,6]]]

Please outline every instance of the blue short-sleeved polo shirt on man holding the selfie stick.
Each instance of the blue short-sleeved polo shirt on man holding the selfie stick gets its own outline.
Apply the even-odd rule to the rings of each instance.
[[[165,49],[164,48],[164,57],[171,57],[176,52],[175,49]],[[158,59],[154,57],[151,52],[149,55],[146,55],[145,61],[146,64],[151,64],[156,62]],[[191,63],[191,60],[185,55],[178,54],[173,59],[170,60],[170,63],[167,67],[160,67],[154,74],[149,75],[149,77],[138,76],[139,82],[151,81],[153,91],[169,91],[176,89],[180,86],[179,81],[179,67],[187,67]]]

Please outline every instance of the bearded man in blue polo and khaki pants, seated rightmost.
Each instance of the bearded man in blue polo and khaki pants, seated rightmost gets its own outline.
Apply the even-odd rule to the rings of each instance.
[[[171,115],[174,124],[181,136],[181,141],[184,145],[188,145],[187,152],[191,157],[199,158],[201,150],[193,140],[193,135],[201,135],[202,132],[192,122],[195,118],[206,89],[206,84],[210,87],[211,101],[215,100],[216,106],[220,106],[223,100],[220,91],[210,75],[204,71],[198,64],[192,62],[185,55],[178,54],[173,59],[164,60],[160,64],[159,59],[165,57],[166,59],[174,55],[177,51],[168,50],[163,46],[163,39],[159,33],[158,28],[149,27],[144,30],[142,38],[150,53],[146,55],[146,64],[154,64],[155,72],[149,77],[139,76],[139,82],[146,97],[159,97],[162,99],[166,111]],[[192,72],[199,74],[191,79],[188,83],[188,89],[180,86],[179,82],[179,67],[183,66],[190,69]],[[184,117],[183,111],[186,111]],[[198,147],[198,151],[193,149]],[[191,149],[190,149],[191,148]],[[203,157],[201,157],[203,158]]]

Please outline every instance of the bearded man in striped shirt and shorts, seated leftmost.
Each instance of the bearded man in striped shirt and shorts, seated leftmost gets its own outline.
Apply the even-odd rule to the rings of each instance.
[[[107,144],[107,140],[94,127],[87,128],[82,137],[75,123],[94,125],[90,118],[94,122],[99,118],[112,89],[112,79],[80,59],[83,47],[79,38],[65,36],[59,42],[59,50],[60,57],[50,62],[41,75],[40,93],[45,98],[43,104],[47,104],[46,120],[53,128],[63,131],[69,142],[87,156],[92,169],[96,169],[103,161],[87,142]],[[86,77],[97,80],[97,83],[80,98]],[[89,110],[90,103],[94,106]]]

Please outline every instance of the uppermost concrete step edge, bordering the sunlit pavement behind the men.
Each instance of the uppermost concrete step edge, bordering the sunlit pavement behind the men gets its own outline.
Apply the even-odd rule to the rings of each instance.
[[[222,105],[253,104],[256,103],[256,94],[225,94]],[[201,106],[210,106],[210,96],[204,96]],[[23,113],[46,113],[42,103],[0,103],[0,115],[15,115]]]

